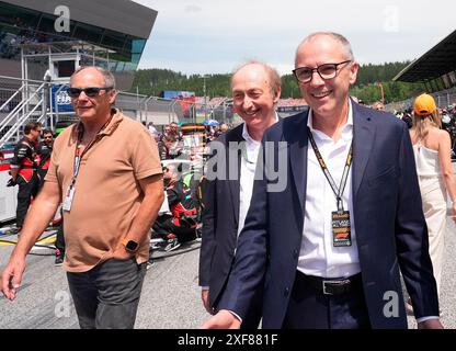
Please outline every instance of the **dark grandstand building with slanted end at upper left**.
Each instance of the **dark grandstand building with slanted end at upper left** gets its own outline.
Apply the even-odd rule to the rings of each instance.
[[[68,31],[56,24],[58,16],[54,13],[61,7],[69,11]],[[121,90],[129,90],[156,18],[157,11],[128,0],[0,1],[0,76],[24,78],[23,45],[81,42],[86,44],[83,49],[96,46],[99,52],[103,50],[100,58],[111,57],[98,64],[109,66]],[[52,48],[60,54],[68,52],[68,47],[61,45]],[[39,53],[39,48],[31,50]],[[68,75],[75,69],[72,63],[64,58],[53,64],[58,73],[61,70]],[[34,67],[29,78],[43,79],[46,69]]]

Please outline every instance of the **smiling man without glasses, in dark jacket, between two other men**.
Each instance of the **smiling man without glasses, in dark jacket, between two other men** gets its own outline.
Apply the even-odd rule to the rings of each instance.
[[[281,95],[281,78],[267,65],[250,61],[233,72],[231,91],[235,111],[244,123],[213,141],[212,150],[224,155],[227,167],[223,177],[208,180],[204,191],[200,285],[203,304],[210,314],[217,310],[231,272],[238,235],[250,205],[263,132],[278,118],[275,107]],[[230,150],[235,157],[230,157]],[[219,154],[214,156],[220,158]],[[259,290],[242,328],[258,328],[261,295]]]

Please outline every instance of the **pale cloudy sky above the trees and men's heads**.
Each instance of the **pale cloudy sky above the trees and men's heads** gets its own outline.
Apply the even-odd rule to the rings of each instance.
[[[455,29],[456,2],[429,0],[135,0],[158,11],[139,68],[228,73],[260,59],[282,75],[299,42],[333,31],[361,64],[414,59]]]

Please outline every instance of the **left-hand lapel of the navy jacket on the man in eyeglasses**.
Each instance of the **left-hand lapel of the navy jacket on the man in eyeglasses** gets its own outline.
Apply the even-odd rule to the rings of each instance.
[[[292,165],[293,180],[295,182],[301,213],[305,210],[306,184],[307,184],[307,118],[308,112],[292,124],[293,129],[284,131],[288,134],[285,139],[289,140],[289,165]]]

